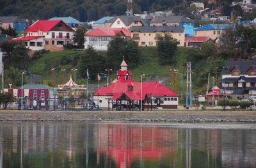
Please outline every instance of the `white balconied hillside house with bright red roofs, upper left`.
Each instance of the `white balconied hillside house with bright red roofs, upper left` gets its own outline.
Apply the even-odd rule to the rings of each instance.
[[[37,20],[28,26],[24,36],[14,38],[23,41],[31,50],[63,50],[71,43],[74,30],[62,20]]]

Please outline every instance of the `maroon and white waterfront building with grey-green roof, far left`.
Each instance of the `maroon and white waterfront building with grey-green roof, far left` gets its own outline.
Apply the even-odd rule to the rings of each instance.
[[[33,109],[57,109],[59,93],[46,84],[25,84],[22,89],[8,88],[16,98],[24,98],[23,104]],[[26,109],[26,108],[24,108]]]

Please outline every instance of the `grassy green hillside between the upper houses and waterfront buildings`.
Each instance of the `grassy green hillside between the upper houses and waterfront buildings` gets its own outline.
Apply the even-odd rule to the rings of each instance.
[[[146,81],[162,81],[168,88],[175,89],[174,81],[171,81],[171,72],[170,68],[179,70],[183,76],[183,88],[181,88],[181,79],[180,73],[177,75],[177,92],[180,93],[181,89],[183,89],[183,94],[186,92],[186,62],[189,60],[192,61],[192,82],[194,91],[204,91],[205,83],[207,83],[208,73],[211,73],[215,76],[215,67],[222,67],[225,65],[225,61],[216,58],[213,60],[205,60],[205,59],[196,59],[193,57],[193,52],[196,52],[198,49],[193,48],[184,48],[179,47],[177,52],[175,53],[175,57],[173,58],[173,64],[168,66],[159,65],[159,61],[156,54],[155,47],[140,47],[141,56],[143,59],[143,63],[141,63],[136,68],[129,68],[132,71],[132,77],[136,81],[140,81],[140,75],[145,73],[145,77],[143,80]],[[101,54],[104,54],[101,53]],[[79,59],[84,55],[84,51],[72,51],[72,50],[64,50],[61,52],[48,52],[44,54],[44,56],[33,59],[29,64],[28,70],[33,74],[42,75],[44,77],[44,83],[52,84],[52,70],[51,68],[55,68],[54,70],[54,83],[62,84],[62,72],[61,69],[65,68],[65,82],[69,79],[70,75],[74,80],[74,72],[71,70],[72,68],[78,68]],[[218,73],[220,73],[221,68],[218,69]],[[84,72],[86,73],[86,72]],[[90,70],[89,70],[90,73]],[[106,72],[99,72],[106,73]],[[111,80],[115,79],[116,70],[111,72],[110,78]],[[83,84],[85,79],[81,79],[76,74],[76,82],[78,84]],[[175,80],[175,75],[173,77]],[[34,81],[34,82],[43,82]],[[212,81],[211,81],[212,82]],[[94,83],[97,85],[97,80],[90,81],[90,83]],[[173,85],[171,86],[170,83]],[[106,79],[102,76],[99,84],[105,85]]]

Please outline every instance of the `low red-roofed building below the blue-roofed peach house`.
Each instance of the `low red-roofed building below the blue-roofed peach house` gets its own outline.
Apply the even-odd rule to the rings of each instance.
[[[211,37],[208,36],[186,36],[185,47],[198,47],[200,48],[204,42],[214,42]]]

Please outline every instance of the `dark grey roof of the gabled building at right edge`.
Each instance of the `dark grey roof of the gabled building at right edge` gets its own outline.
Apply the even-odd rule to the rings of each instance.
[[[247,70],[253,65],[256,65],[256,61],[228,61],[223,67],[221,75],[229,75],[230,70],[234,67],[239,69],[241,75],[246,75],[248,74]]]

